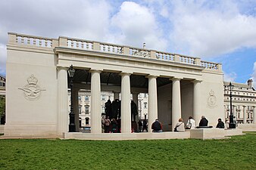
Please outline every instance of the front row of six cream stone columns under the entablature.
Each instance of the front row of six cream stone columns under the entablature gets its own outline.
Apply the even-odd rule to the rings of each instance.
[[[100,70],[90,70],[91,78],[91,133],[101,133],[101,80]],[[122,133],[131,133],[131,116],[130,116],[130,73],[120,73],[121,76],[121,131]],[[158,118],[158,94],[157,78],[158,76],[147,76],[148,78],[148,131],[151,131],[151,124]],[[173,100],[172,100],[172,130],[181,118],[181,92],[180,79],[173,78]],[[198,120],[200,115],[199,91],[200,81],[194,81],[194,118]],[[73,93],[77,94],[77,93]],[[117,96],[118,95],[118,96]],[[119,98],[119,94],[114,94]],[[138,100],[138,98],[134,97]],[[67,68],[58,68],[58,134],[61,135],[67,131]],[[136,102],[138,103],[138,101]],[[76,109],[76,108],[74,108]],[[78,109],[78,108],[77,108]],[[76,116],[76,125],[79,125],[79,118]]]

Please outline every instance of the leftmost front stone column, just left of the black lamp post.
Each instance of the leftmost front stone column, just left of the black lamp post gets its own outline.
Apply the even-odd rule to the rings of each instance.
[[[57,134],[63,135],[68,131],[68,94],[67,94],[67,69],[58,67],[58,111],[57,111]]]

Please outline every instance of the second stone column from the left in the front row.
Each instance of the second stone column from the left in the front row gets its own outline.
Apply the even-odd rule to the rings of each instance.
[[[101,133],[101,79],[99,70],[90,70],[91,78],[91,133]]]

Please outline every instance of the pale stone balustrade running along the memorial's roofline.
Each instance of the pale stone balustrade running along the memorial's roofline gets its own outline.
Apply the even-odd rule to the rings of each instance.
[[[164,60],[173,63],[183,63],[189,65],[203,66],[207,70],[222,71],[220,63],[211,63],[201,61],[198,57],[189,57],[180,54],[166,53],[162,51],[153,51],[145,48],[133,48],[123,45],[114,45],[105,42],[94,42],[85,39],[73,39],[60,36],[58,39],[51,39],[40,36],[29,36],[8,32],[8,45],[36,46],[40,48],[77,48],[89,51],[101,51],[106,53],[123,54],[134,57],[151,58],[155,60]]]

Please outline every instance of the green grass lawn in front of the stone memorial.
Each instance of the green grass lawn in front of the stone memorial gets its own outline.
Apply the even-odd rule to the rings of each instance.
[[[256,133],[226,140],[0,140],[0,169],[256,169]]]

